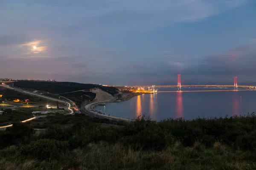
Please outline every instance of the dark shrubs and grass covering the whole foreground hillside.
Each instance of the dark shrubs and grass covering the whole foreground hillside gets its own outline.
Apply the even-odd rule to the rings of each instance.
[[[7,128],[0,134],[3,148],[0,150],[0,167],[55,170],[256,169],[255,113],[230,118],[167,119],[161,122],[140,116],[130,123],[82,116],[55,117],[54,125],[39,134],[32,130],[33,122]],[[63,126],[71,125],[67,119],[73,122],[72,126]],[[79,122],[74,124],[76,121]],[[12,133],[15,138],[10,135]],[[10,144],[7,145],[6,141]]]

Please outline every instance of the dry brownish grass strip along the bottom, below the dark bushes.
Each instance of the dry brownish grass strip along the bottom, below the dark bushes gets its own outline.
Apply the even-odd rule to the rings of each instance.
[[[119,143],[100,142],[61,153],[58,160],[48,161],[24,158],[17,147],[11,147],[2,151],[0,167],[6,170],[255,170],[253,155],[251,151],[234,150],[218,142],[212,148],[201,144],[182,147],[177,143],[162,151],[134,150]]]

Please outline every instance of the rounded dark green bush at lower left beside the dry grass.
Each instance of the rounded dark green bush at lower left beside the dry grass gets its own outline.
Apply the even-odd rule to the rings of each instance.
[[[21,153],[38,159],[56,159],[61,152],[69,149],[69,144],[55,139],[39,139],[21,147]]]

